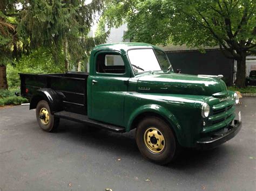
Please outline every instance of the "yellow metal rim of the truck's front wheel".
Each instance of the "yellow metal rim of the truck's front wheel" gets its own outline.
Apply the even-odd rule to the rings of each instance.
[[[164,150],[165,139],[163,133],[157,128],[150,127],[144,133],[144,142],[153,153],[160,153]]]

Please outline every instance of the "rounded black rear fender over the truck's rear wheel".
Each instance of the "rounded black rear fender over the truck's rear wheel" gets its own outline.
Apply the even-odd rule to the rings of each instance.
[[[63,94],[57,93],[51,88],[41,88],[38,89],[36,93],[33,94],[33,96],[31,97],[29,109],[35,109],[39,101],[45,100],[49,104],[51,113],[53,113],[62,109],[61,103],[63,101],[63,98]]]

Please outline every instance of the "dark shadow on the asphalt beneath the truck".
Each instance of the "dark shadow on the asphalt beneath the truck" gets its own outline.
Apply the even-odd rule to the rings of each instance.
[[[72,139],[73,142],[91,149],[99,151],[105,149],[108,152],[113,152],[113,155],[126,155],[130,158],[144,160],[136,145],[135,130],[129,133],[114,133],[63,120],[57,133],[63,134],[65,137]],[[221,158],[225,158],[228,147],[230,146],[224,144],[206,151],[184,148],[179,157],[165,167],[186,171],[188,169],[200,170],[223,161]],[[144,161],[147,162],[146,160]]]

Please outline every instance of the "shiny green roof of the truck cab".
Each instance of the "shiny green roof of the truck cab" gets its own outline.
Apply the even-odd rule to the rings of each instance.
[[[96,53],[97,51],[119,51],[122,53],[126,53],[129,49],[134,48],[154,48],[159,49],[159,47],[147,44],[147,43],[111,43],[111,44],[102,44],[98,45],[95,48],[92,49],[92,54]]]

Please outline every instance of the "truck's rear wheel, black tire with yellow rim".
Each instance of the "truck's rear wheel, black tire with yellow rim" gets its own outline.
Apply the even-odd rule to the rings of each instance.
[[[44,110],[44,109],[46,109],[46,111],[49,114],[48,121],[45,121],[44,119],[40,118],[41,110]],[[51,110],[50,110],[49,104],[45,100],[41,100],[37,104],[37,107],[36,107],[36,119],[37,119],[37,123],[40,126],[40,128],[42,130],[46,131],[46,132],[56,131],[57,127],[59,125],[59,118],[54,117],[51,114]]]

